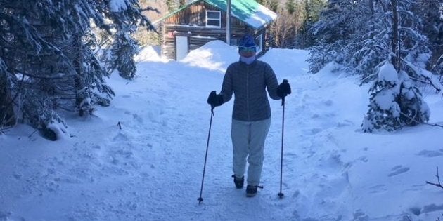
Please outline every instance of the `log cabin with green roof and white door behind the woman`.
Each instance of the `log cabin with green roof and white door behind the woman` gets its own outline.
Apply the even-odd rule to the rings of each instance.
[[[181,60],[205,43],[226,42],[226,0],[194,0],[153,22],[158,28],[163,57]],[[257,57],[269,49],[269,25],[277,14],[255,0],[231,0],[229,44],[244,34],[255,36]]]

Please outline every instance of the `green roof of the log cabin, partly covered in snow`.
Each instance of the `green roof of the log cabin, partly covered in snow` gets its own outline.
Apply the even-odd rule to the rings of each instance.
[[[207,4],[211,4],[212,6],[219,8],[221,11],[226,12],[226,0],[194,0],[153,23],[155,24],[165,20],[166,18],[183,11],[185,8],[197,3],[198,1],[205,1]],[[277,18],[277,14],[274,13],[274,11],[262,6],[255,0],[231,0],[231,15],[245,22],[251,27],[254,27],[255,29],[260,29]]]

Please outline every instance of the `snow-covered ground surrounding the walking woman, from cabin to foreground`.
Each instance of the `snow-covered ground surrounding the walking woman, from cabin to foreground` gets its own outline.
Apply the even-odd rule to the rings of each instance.
[[[426,181],[438,182],[443,167],[443,128],[362,133],[371,85],[333,63],[308,74],[307,58],[275,48],[259,58],[293,93],[283,170],[283,107],[270,100],[257,196],[247,198],[231,178],[233,100],[214,109],[209,133],[207,95],[220,91],[238,60],[235,47],[212,41],[180,61],[144,48],[136,79],[108,79],[116,93],[110,107],[86,117],[62,112],[67,134],[56,141],[23,124],[3,131],[0,220],[442,220],[443,189]],[[423,96],[429,123],[443,125],[442,95],[423,88]]]

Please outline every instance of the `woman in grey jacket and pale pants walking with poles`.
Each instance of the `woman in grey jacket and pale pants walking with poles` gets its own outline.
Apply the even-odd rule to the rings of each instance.
[[[228,102],[235,94],[231,139],[233,146],[233,181],[238,189],[243,188],[246,161],[248,161],[248,186],[246,196],[257,194],[264,160],[264,141],[271,125],[269,96],[274,100],[290,94],[287,80],[278,85],[276,74],[266,62],[257,60],[254,38],[249,34],[238,43],[240,59],[226,69],[226,74],[217,95],[212,91],[207,98],[214,107]]]

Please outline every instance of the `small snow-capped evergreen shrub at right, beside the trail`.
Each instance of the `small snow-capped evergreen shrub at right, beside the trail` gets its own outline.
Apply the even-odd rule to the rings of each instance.
[[[397,72],[387,60],[376,72],[378,79],[369,90],[369,110],[361,124],[364,132],[392,131],[429,120],[429,107],[406,72]]]

